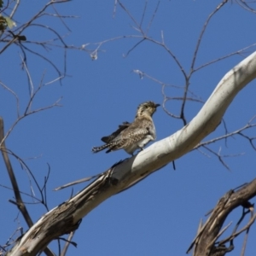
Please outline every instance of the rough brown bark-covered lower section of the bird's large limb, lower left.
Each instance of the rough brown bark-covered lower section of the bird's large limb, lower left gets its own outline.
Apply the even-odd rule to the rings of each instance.
[[[116,180],[111,177],[113,169],[114,166],[71,200],[46,213],[37,224],[20,237],[19,242],[7,255],[37,255],[49,241],[78,229],[81,219],[77,218],[77,214],[84,205],[93,203],[96,197],[100,197],[103,201],[117,191]],[[94,207],[97,205],[98,203]],[[22,250],[20,250],[20,245]]]

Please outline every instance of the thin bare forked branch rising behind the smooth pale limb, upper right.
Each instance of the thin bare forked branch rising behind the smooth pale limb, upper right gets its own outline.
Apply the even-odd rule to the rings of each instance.
[[[236,0],[238,2],[241,2],[241,4],[243,4],[244,6],[247,4],[246,1],[239,1],[239,0]],[[170,55],[172,57],[172,60],[176,63],[177,67],[179,68],[179,70],[181,71],[181,73],[183,73],[183,78],[184,78],[184,85],[181,86],[181,88],[183,88],[183,95],[182,96],[166,96],[165,93],[163,93],[163,96],[164,96],[164,106],[165,106],[165,103],[167,101],[172,101],[172,100],[178,100],[179,102],[181,102],[181,108],[180,108],[180,113],[179,114],[174,114],[170,111],[167,110],[167,108],[164,108],[166,113],[174,118],[177,118],[177,119],[181,119],[183,121],[183,125],[187,125],[188,121],[186,119],[186,115],[185,115],[185,104],[186,102],[189,100],[193,101],[193,102],[200,102],[201,100],[197,101],[195,100],[194,97],[189,97],[188,96],[188,93],[189,93],[189,85],[190,85],[190,80],[193,76],[194,73],[196,73],[197,71],[201,70],[202,68],[204,67],[207,67],[209,65],[212,65],[213,63],[216,63],[218,61],[221,61],[221,60],[224,60],[226,58],[229,58],[233,55],[241,55],[242,53],[245,53],[247,49],[250,49],[252,47],[254,47],[256,44],[252,44],[250,46],[247,46],[247,47],[244,47],[243,49],[239,49],[235,52],[232,52],[228,55],[224,55],[224,56],[221,56],[215,60],[212,60],[212,61],[208,61],[207,63],[204,63],[202,64],[200,67],[195,67],[195,62],[196,62],[196,59],[198,57],[198,54],[199,54],[199,51],[200,51],[200,47],[201,47],[201,40],[203,39],[204,37],[204,34],[207,30],[207,26],[209,25],[210,21],[212,20],[213,17],[216,16],[216,14],[218,13],[218,11],[220,9],[222,9],[224,7],[224,5],[226,3],[228,3],[229,1],[228,0],[222,0],[218,6],[213,9],[212,13],[210,15],[208,15],[207,17],[207,20],[205,21],[204,25],[202,26],[202,29],[201,29],[201,32],[200,32],[200,35],[197,39],[197,42],[195,44],[195,50],[194,50],[194,54],[192,56],[192,59],[191,59],[191,65],[190,65],[190,70],[189,72],[186,72],[184,67],[183,67],[183,64],[180,62],[180,60],[177,58],[177,56],[175,55],[175,53],[172,51],[172,49],[170,49],[166,43],[165,43],[165,40],[164,40],[164,32],[161,31],[161,40],[156,40],[155,38],[150,38],[148,36],[148,31],[149,31],[149,28],[150,26],[152,25],[152,22],[154,20],[154,16],[157,15],[157,11],[158,11],[158,7],[159,7],[159,4],[160,2],[157,3],[156,5],[156,8],[154,9],[154,13],[153,15],[151,16],[151,19],[149,20],[148,22],[148,26],[146,29],[143,29],[143,22],[144,22],[144,16],[145,16],[145,13],[146,13],[146,10],[147,10],[147,6],[148,6],[148,2],[146,1],[145,2],[145,5],[144,5],[144,9],[143,9],[143,15],[142,15],[142,18],[141,20],[136,20],[136,18],[134,17],[134,15],[131,14],[131,10],[127,9],[125,7],[125,4],[122,3],[121,1],[119,0],[116,0],[114,1],[114,7],[113,7],[113,15],[115,15],[116,13],[116,9],[117,9],[117,6],[120,6],[121,9],[123,9],[125,11],[125,14],[128,15],[130,17],[130,19],[132,20],[134,26],[132,26],[140,35],[129,35],[129,36],[120,36],[120,37],[116,37],[116,38],[110,38],[110,39],[107,39],[107,40],[104,40],[102,42],[99,42],[99,43],[95,43],[96,44],[96,49],[91,49],[90,50],[90,57],[93,59],[93,60],[96,60],[97,59],[97,54],[98,54],[98,51],[99,49],[102,47],[103,44],[107,44],[108,42],[111,42],[111,41],[115,41],[115,40],[119,40],[121,38],[137,38],[138,39],[138,42],[135,43],[131,49],[129,49],[127,51],[127,53],[124,55],[124,56],[127,56],[129,54],[131,54],[131,52],[134,50],[134,49],[137,49],[137,46],[139,44],[142,44],[144,41],[149,41],[151,42],[152,44],[156,44],[158,46],[160,46],[161,48],[165,49],[166,50],[166,53],[168,55]],[[88,45],[90,44],[84,44],[84,47],[87,47]],[[142,79],[145,75],[145,73],[143,72],[140,72],[140,71],[133,71],[135,73],[138,73],[140,78]],[[150,76],[148,76],[149,78]],[[154,78],[151,78],[152,80],[155,80],[156,83],[159,83],[159,81],[157,81],[157,79],[154,79]],[[161,83],[161,82],[160,82]],[[164,83],[162,83],[162,85],[164,85]],[[172,85],[172,86],[175,86],[175,85]]]

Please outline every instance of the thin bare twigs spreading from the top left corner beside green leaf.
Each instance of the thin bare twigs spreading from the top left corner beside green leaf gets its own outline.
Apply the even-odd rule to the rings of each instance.
[[[12,19],[12,17],[15,15],[15,13],[19,10],[20,7],[20,0],[14,1],[15,4],[8,4],[10,9],[9,18]],[[64,22],[64,18],[76,18],[76,16],[73,15],[61,15],[57,11],[55,5],[59,3],[67,3],[70,2],[70,0],[50,0],[49,3],[45,3],[41,9],[38,10],[38,13],[30,17],[25,23],[22,23],[20,26],[12,28],[12,31],[4,31],[1,32],[0,37],[1,42],[4,43],[2,49],[0,49],[0,55],[6,50],[9,49],[10,45],[15,44],[17,47],[20,48],[22,55],[23,55],[23,62],[27,64],[27,53],[31,53],[32,55],[38,56],[38,58],[42,59],[43,61],[46,61],[49,63],[51,67],[55,70],[55,72],[58,74],[59,78],[64,78],[67,76],[67,50],[68,49],[79,49],[83,51],[87,51],[87,49],[84,49],[83,46],[75,46],[75,45],[68,45],[66,44],[64,38],[66,36],[62,36],[55,28],[52,26],[45,26],[44,23],[40,23],[40,18],[44,16],[52,17],[53,19],[59,19],[61,20],[61,23],[68,32],[70,32],[70,29],[68,28],[67,24]],[[52,8],[55,12],[55,14],[49,13],[49,8]],[[18,22],[17,22],[18,23]],[[49,32],[49,34],[53,35],[55,38],[49,38],[44,40],[44,42],[38,42],[37,40],[30,40],[26,41],[26,29],[32,26],[40,27],[44,30],[44,32]],[[46,33],[47,34],[47,33]],[[20,38],[25,38],[21,39]],[[55,42],[55,44],[52,44],[52,42]],[[40,53],[38,50],[33,50],[31,47],[29,47],[30,44],[39,45],[43,47],[45,50],[51,49],[52,47],[61,48],[63,50],[63,67],[57,67],[55,65],[55,61],[50,58],[50,56],[45,56],[44,54]],[[61,83],[61,79],[59,79]]]

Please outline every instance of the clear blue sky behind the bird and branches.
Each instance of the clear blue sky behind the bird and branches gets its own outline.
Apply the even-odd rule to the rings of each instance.
[[[135,19],[141,20],[144,1],[123,3]],[[184,70],[189,72],[202,26],[219,3],[215,0],[160,1],[148,36],[160,40],[163,31],[166,45],[172,49]],[[147,28],[156,5],[157,1],[148,3],[143,28]],[[38,2],[29,5],[21,3],[15,21],[26,22],[41,8]],[[113,1],[72,1],[59,4],[56,8],[61,14],[79,16],[78,19],[66,20],[72,30],[66,38],[67,44],[81,46],[90,43],[86,47],[95,49],[96,45],[93,43],[119,36],[140,35],[132,28],[134,23],[131,18],[119,6],[113,18]],[[50,12],[53,13],[52,9]],[[41,22],[57,29],[61,35],[68,33],[60,21],[49,16]],[[241,9],[235,1],[227,3],[212,17],[207,26],[195,67],[255,44],[255,26],[256,17],[253,13]],[[24,35],[29,41],[43,41],[53,37],[38,27],[29,28]],[[6,141],[7,147],[26,161],[38,178],[38,183],[44,183],[49,164],[49,209],[66,201],[72,193],[70,188],[58,192],[53,192],[52,189],[81,177],[103,172],[113,163],[128,157],[124,150],[111,154],[92,154],[91,148],[102,144],[102,136],[110,134],[121,122],[132,121],[139,103],[148,100],[163,102],[161,85],[146,77],[140,79],[132,70],[140,70],[166,84],[184,86],[183,75],[176,63],[165,49],[156,44],[143,42],[124,58],[137,42],[137,38],[124,38],[102,44],[96,61],[92,61],[90,54],[84,51],[68,51],[69,76],[62,81],[62,85],[55,83],[45,86],[32,105],[33,109],[43,108],[62,97],[62,107],[51,108],[23,119]],[[58,67],[62,67],[61,49],[45,51],[33,44],[25,45],[39,50],[54,60]],[[0,46],[2,48],[3,43]],[[199,96],[201,101],[207,101],[207,97],[224,74],[253,50],[255,48],[202,68],[192,76],[189,90]],[[0,80],[19,96],[22,112],[29,93],[26,73],[20,69],[20,55],[22,53],[16,46],[9,47],[1,55]],[[45,61],[34,55],[27,55],[27,58],[27,67],[35,88],[43,74],[44,83],[57,77]],[[255,94],[253,81],[231,103],[224,115],[228,131],[236,131],[253,117],[256,107]],[[183,90],[166,87],[166,96],[182,95]],[[184,113],[188,121],[201,106],[202,103],[199,102],[187,103]],[[166,108],[178,114],[180,102],[167,102]],[[0,109],[7,131],[15,122],[16,105],[15,97],[3,88],[0,88]],[[171,118],[162,107],[154,114],[154,124],[157,140],[170,136],[183,127],[180,119]],[[222,134],[224,125],[219,125],[205,140]],[[246,131],[246,134],[253,137],[255,130]],[[230,171],[206,151],[204,152],[208,156],[199,151],[184,155],[176,160],[176,171],[173,171],[170,164],[90,212],[73,238],[78,247],[70,247],[67,255],[185,255],[190,242],[195,238],[200,219],[206,219],[204,215],[216,205],[224,193],[255,177],[255,151],[246,140],[230,137],[227,146],[224,142],[218,142],[212,144],[211,148],[216,152],[221,148],[222,154],[225,155],[242,155],[224,159],[230,166]],[[30,193],[30,181],[26,171],[20,168],[17,160],[11,160],[20,189]],[[0,166],[3,170],[0,184],[10,186],[3,160],[0,160]],[[32,188],[35,188],[33,184]],[[73,191],[77,193],[82,188],[84,184],[75,186]],[[36,189],[34,192],[39,196]],[[0,187],[0,200],[4,207],[1,230],[5,230],[0,232],[1,245],[17,227],[27,229],[16,207],[8,202],[13,196],[11,190]],[[24,201],[32,202],[29,197],[25,197]],[[29,204],[27,207],[34,222],[46,212],[40,205]],[[240,214],[241,209],[232,212],[227,224],[233,221],[234,227]],[[230,234],[232,227],[226,234]],[[253,226],[247,242],[246,255],[256,253],[253,244],[255,233]],[[229,255],[239,255],[241,243],[242,240],[238,238],[235,241],[235,251]],[[50,247],[56,250],[56,242]]]

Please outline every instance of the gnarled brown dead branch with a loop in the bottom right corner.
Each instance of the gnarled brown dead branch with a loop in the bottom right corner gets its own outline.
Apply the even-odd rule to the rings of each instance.
[[[187,253],[194,247],[194,256],[206,255],[206,256],[221,256],[225,255],[234,249],[234,239],[239,236],[245,230],[249,230],[253,224],[256,214],[253,214],[253,205],[249,202],[256,195],[256,179],[252,182],[241,186],[240,189],[231,189],[227,192],[217,203],[217,206],[212,210],[211,216],[207,219],[207,222],[203,224],[197,233],[192,244],[189,246]],[[243,207],[243,212],[240,220],[236,224],[232,235],[225,238],[222,241],[217,241],[224,231],[221,231],[225,219],[229,216],[237,207]],[[249,211],[245,209],[249,208]],[[251,212],[251,218],[240,231],[236,232],[241,220],[245,215]],[[230,247],[226,247],[225,243],[230,242]]]

